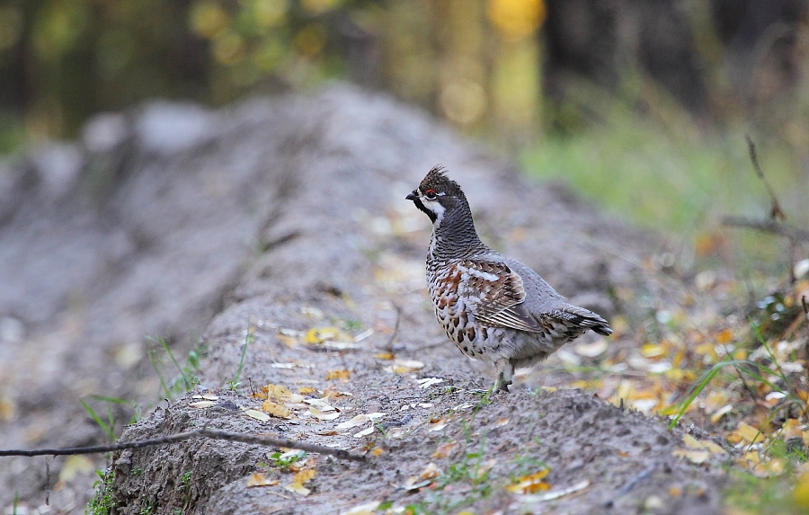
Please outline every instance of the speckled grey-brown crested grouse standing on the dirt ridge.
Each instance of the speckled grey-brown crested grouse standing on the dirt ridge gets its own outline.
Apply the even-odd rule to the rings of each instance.
[[[509,392],[515,368],[536,365],[587,331],[612,334],[603,317],[484,244],[467,196],[441,165],[405,199],[432,222],[427,289],[435,316],[459,351],[494,368],[496,391]]]

